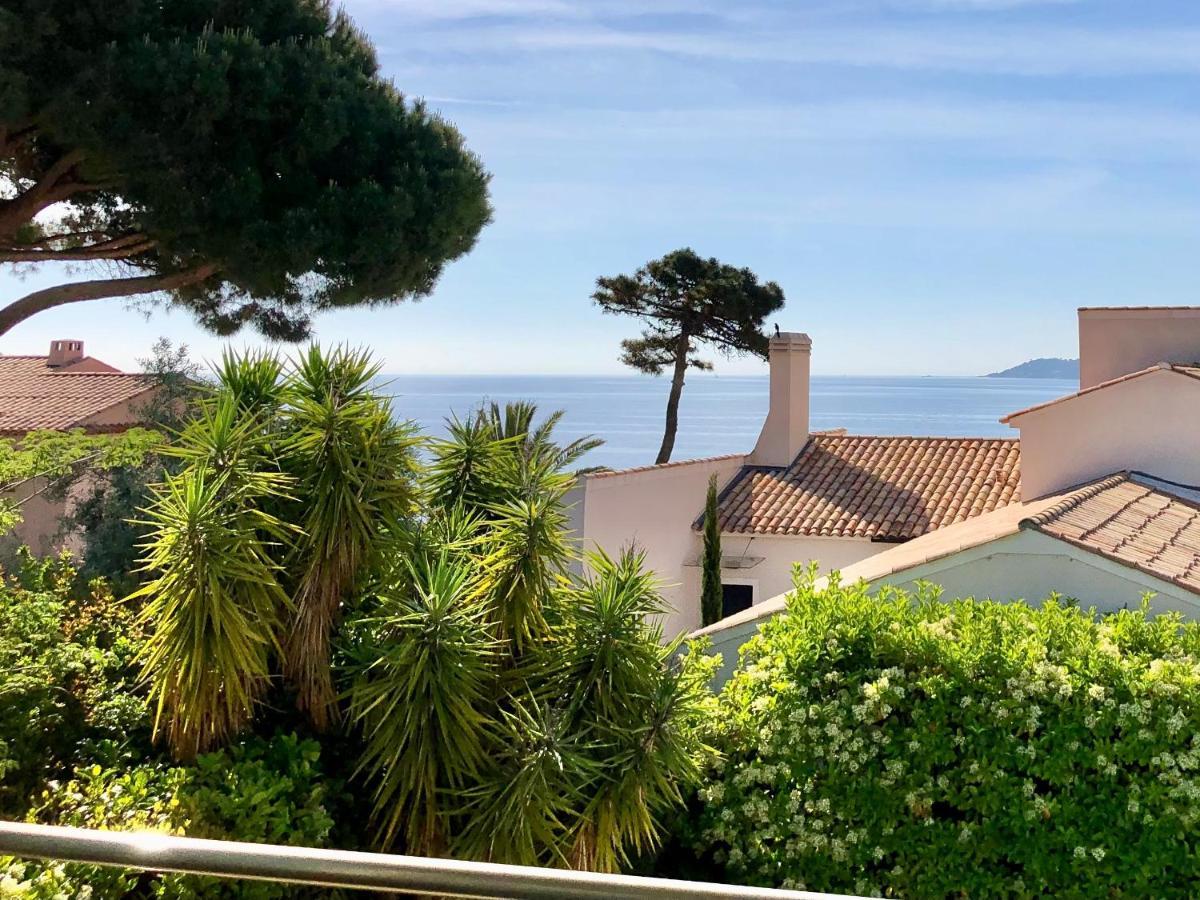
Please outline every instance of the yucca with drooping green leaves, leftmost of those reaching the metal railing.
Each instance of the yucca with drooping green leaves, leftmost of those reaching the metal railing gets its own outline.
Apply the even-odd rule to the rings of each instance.
[[[378,640],[349,691],[361,730],[359,772],[374,785],[377,842],[409,852],[446,848],[446,790],[479,776],[496,745],[491,710],[498,644],[473,599],[475,572],[449,551],[418,554],[408,590],[384,594],[366,623]]]

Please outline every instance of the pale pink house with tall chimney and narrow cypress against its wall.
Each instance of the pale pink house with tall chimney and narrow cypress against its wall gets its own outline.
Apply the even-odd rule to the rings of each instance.
[[[786,592],[796,563],[845,569],[1018,499],[1014,439],[812,433],[811,352],[808,335],[770,338],[770,402],[749,454],[581,478],[577,533],[586,546],[646,553],[665,583],[667,635],[701,625],[700,514],[712,475],[730,614]]]

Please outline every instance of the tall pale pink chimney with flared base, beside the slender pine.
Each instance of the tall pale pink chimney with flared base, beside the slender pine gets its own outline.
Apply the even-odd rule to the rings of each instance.
[[[750,466],[791,466],[809,440],[809,368],[812,341],[798,331],[770,338],[770,408]]]

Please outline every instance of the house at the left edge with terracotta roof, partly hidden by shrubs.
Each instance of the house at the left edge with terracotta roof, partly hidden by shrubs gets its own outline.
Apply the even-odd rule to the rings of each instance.
[[[83,341],[52,341],[49,353],[0,355],[0,438],[19,440],[31,431],[118,433],[143,421],[142,409],[157,390],[142,374],[121,372],[84,353]],[[38,552],[71,546],[60,520],[72,499],[49,499],[43,484],[22,485],[10,497],[22,500],[23,521],[6,544]]]

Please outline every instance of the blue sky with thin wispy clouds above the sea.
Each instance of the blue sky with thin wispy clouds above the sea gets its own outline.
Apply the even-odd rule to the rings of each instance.
[[[1200,302],[1194,0],[346,6],[493,173],[496,221],[431,298],[318,322],[389,371],[620,371],[637,326],[593,281],[683,245],[778,281],[829,374],[1074,355],[1078,306]],[[60,275],[0,274],[0,300]],[[120,301],[0,349],[132,365],[160,335],[220,349]]]

